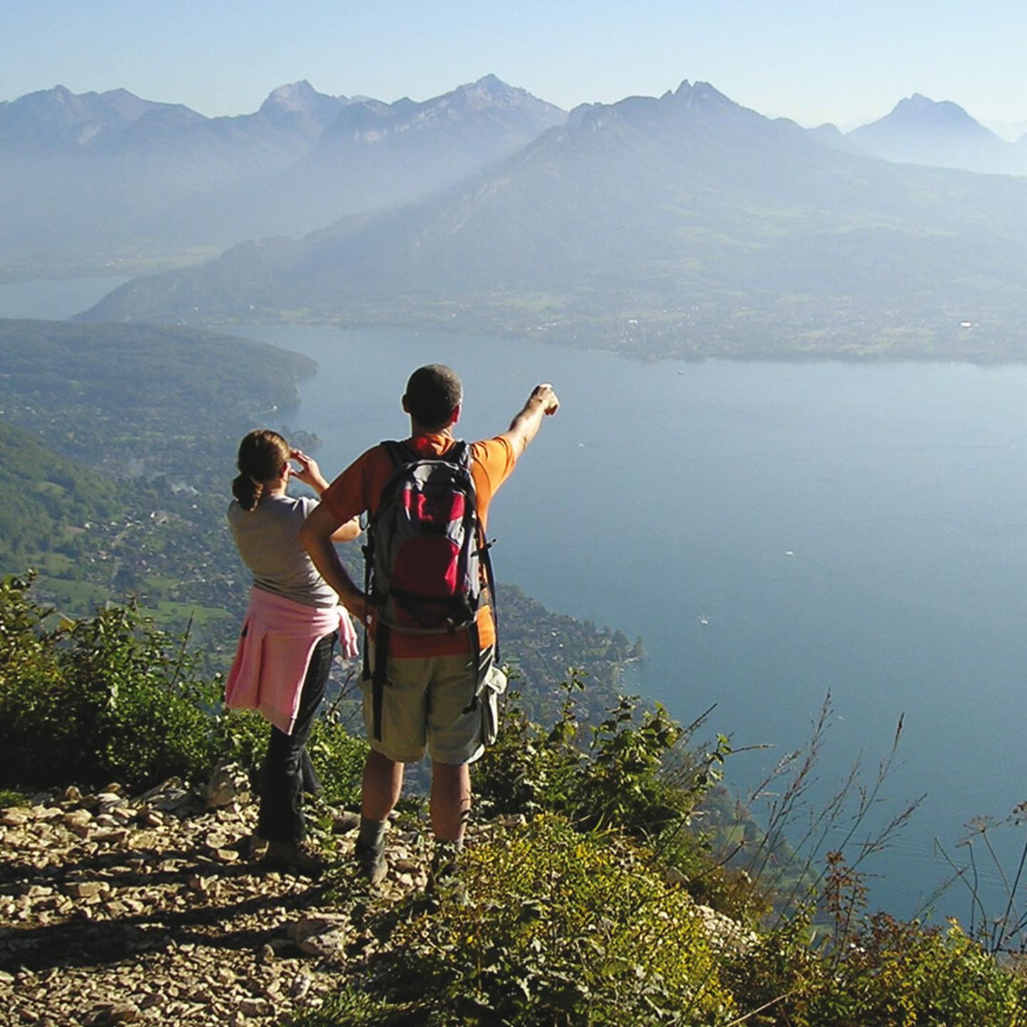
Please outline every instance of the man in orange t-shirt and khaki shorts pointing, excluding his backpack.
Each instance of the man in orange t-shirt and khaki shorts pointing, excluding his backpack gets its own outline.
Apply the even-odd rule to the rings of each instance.
[[[406,446],[431,459],[456,442],[453,427],[460,418],[463,390],[450,368],[432,364],[410,377],[403,409],[410,415],[411,435]],[[492,496],[509,477],[518,458],[535,438],[542,418],[557,412],[560,401],[553,387],[537,385],[509,429],[470,448],[479,521],[484,530]],[[332,545],[340,525],[368,511],[373,518],[393,462],[382,446],[368,450],[344,470],[321,496],[300,531],[300,540],[325,580],[339,594],[342,604],[369,625],[374,638],[376,613],[368,597],[353,584]],[[451,861],[463,842],[470,809],[469,764],[484,751],[481,710],[468,706],[479,686],[479,675],[501,672],[489,668],[495,644],[492,611],[478,611],[479,644],[485,658],[471,652],[470,633],[388,633],[387,686],[380,714],[381,737],[372,730],[370,682],[365,681],[364,714],[371,752],[364,769],[360,830],[356,860],[362,873],[374,884],[386,874],[385,825],[398,801],[404,766],[419,760],[425,746],[431,756],[431,828],[435,837],[435,869]],[[375,657],[371,658],[374,665]],[[498,689],[498,690],[501,690]]]

